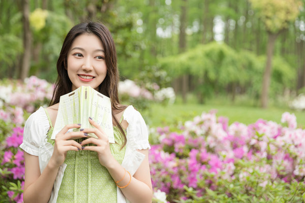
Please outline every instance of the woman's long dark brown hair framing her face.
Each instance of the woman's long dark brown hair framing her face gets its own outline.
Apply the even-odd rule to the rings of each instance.
[[[110,31],[102,23],[80,23],[72,27],[71,30],[68,32],[57,60],[56,67],[58,77],[55,82],[53,96],[49,106],[59,103],[60,96],[72,91],[72,82],[67,72],[67,55],[75,38],[79,35],[82,35],[83,33],[92,33],[96,35],[101,40],[104,46],[107,74],[104,81],[99,85],[99,92],[110,97],[114,125],[118,127],[119,131],[124,137],[124,144],[122,146],[123,148],[127,142],[126,134],[123,130],[123,127],[121,127],[120,123],[114,116],[114,110],[121,112],[125,110],[127,106],[119,104],[117,91],[119,74],[117,69],[115,45]]]

